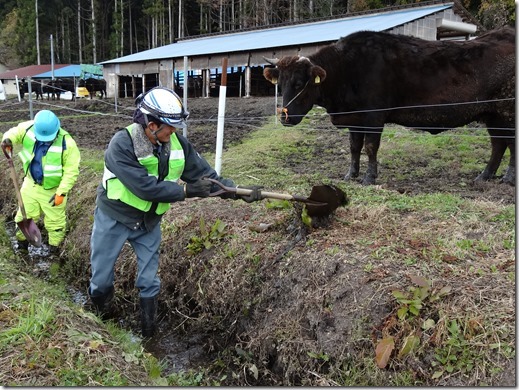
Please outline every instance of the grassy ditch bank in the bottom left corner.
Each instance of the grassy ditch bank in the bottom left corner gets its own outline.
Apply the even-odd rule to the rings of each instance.
[[[73,304],[58,280],[21,271],[3,228],[0,242],[3,385],[153,386],[165,380],[160,364],[128,331]]]

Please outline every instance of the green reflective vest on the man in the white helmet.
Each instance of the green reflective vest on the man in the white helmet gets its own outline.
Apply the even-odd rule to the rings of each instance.
[[[130,133],[132,131],[132,125],[128,126],[126,129]],[[141,131],[140,129],[137,131]],[[169,154],[169,171],[165,181],[177,181],[180,179],[182,172],[184,172],[184,166],[186,164],[186,160],[184,157],[184,149],[182,149],[182,145],[177,138],[175,133],[171,134],[170,138],[171,143],[171,151]],[[148,171],[148,176],[153,176],[158,179],[159,177],[159,159],[154,155],[147,155],[144,157],[140,157],[137,159],[139,163],[146,168]],[[115,176],[113,172],[111,172],[105,165],[104,173],[103,173],[103,187],[106,190],[106,196],[108,199],[117,199],[123,203],[126,203],[132,207],[135,207],[141,211],[149,211],[153,202],[144,200],[139,198],[137,195],[133,194],[130,190],[128,190],[123,183]],[[158,215],[164,214],[171,207],[170,203],[158,203],[156,213]]]

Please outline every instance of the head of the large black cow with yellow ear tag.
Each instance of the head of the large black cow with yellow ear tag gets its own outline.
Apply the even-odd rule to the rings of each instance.
[[[319,87],[326,78],[326,71],[314,65],[307,57],[289,56],[267,59],[275,68],[265,68],[263,76],[273,84],[279,84],[283,95],[281,123],[297,125],[312,109]]]

